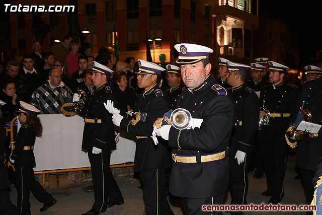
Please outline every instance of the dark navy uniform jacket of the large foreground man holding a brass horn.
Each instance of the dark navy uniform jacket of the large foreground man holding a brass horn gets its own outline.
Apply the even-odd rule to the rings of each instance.
[[[173,195],[208,198],[226,192],[233,105],[226,90],[217,84],[208,77],[199,87],[183,91],[178,98],[177,108],[187,109],[192,118],[203,119],[203,122],[200,128],[170,129],[169,146],[173,153],[197,157],[197,163],[173,163],[170,183]],[[224,159],[200,163],[201,155],[223,151]]]

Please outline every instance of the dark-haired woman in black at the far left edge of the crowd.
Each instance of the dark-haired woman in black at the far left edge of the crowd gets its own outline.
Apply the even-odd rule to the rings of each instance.
[[[2,113],[5,122],[10,123],[16,117],[15,111],[19,109],[20,98],[16,94],[16,85],[13,79],[4,79],[1,89],[0,99],[7,103],[2,107]]]

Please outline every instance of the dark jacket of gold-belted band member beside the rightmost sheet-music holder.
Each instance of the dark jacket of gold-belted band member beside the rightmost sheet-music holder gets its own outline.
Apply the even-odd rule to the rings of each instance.
[[[290,120],[296,113],[299,92],[295,85],[282,82],[273,88],[272,84],[262,87],[260,102],[270,113],[283,113],[283,117],[270,117],[269,125],[262,125],[258,132],[260,139],[274,140],[277,135],[285,135]]]

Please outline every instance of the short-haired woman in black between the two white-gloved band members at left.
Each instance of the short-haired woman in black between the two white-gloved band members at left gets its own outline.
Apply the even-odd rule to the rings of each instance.
[[[119,109],[125,112],[133,111],[137,95],[134,89],[127,86],[126,73],[124,71],[114,73],[113,82],[116,86],[113,95],[119,103]]]

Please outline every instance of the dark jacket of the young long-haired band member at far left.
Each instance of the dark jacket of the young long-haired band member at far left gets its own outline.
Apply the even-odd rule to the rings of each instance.
[[[15,142],[15,149],[12,152],[11,159],[15,160],[15,167],[35,166],[35,156],[33,150],[24,150],[24,147],[33,147],[35,145],[36,134],[28,124],[22,124]]]

